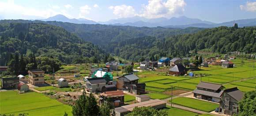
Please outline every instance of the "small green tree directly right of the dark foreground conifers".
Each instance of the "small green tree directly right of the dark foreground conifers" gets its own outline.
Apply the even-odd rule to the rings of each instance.
[[[113,101],[111,101],[110,98],[106,100],[101,106],[100,106],[100,115],[101,116],[115,116],[115,107],[113,105]]]

